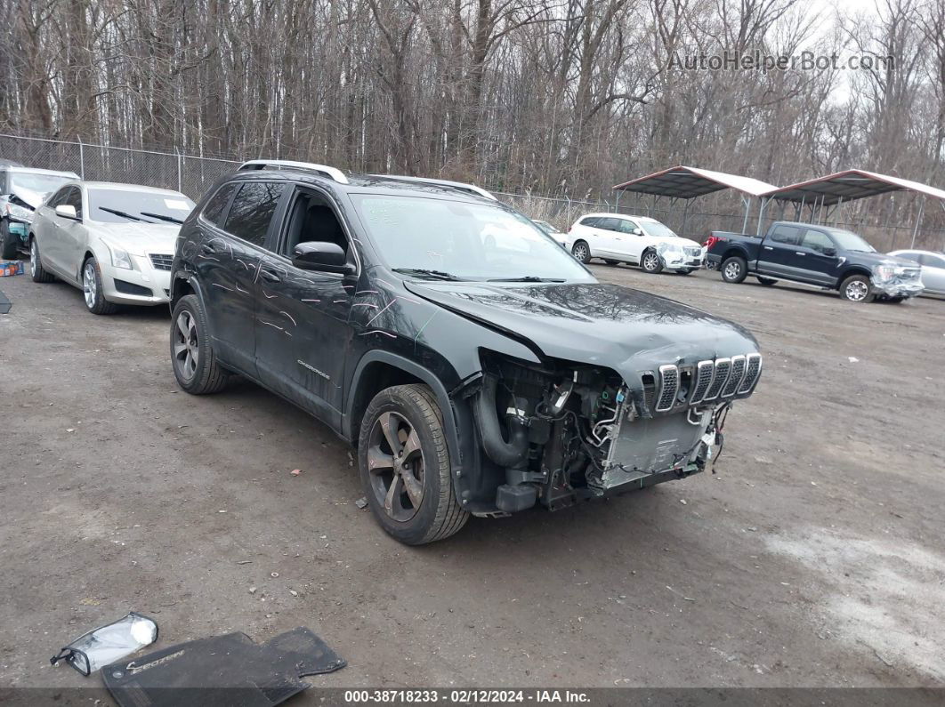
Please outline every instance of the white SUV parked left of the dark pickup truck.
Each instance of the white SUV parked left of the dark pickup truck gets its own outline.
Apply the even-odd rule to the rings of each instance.
[[[600,258],[610,265],[628,262],[647,273],[672,270],[688,275],[702,267],[702,246],[680,238],[648,216],[588,213],[568,231],[565,247],[581,262]]]

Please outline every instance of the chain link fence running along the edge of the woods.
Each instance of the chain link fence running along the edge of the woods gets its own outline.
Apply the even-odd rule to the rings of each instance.
[[[230,174],[242,161],[7,134],[0,134],[0,158],[16,160],[28,167],[75,172],[83,179],[176,189],[195,201],[218,178]],[[595,211],[650,216],[662,221],[680,235],[699,242],[704,241],[710,231],[728,230],[740,233],[746,225],[745,211],[740,202],[736,211],[718,213],[672,206],[659,208],[654,201],[637,194],[617,193],[610,200],[589,201],[537,194],[508,194],[497,191],[492,193],[527,216],[547,221],[564,231],[582,215]],[[793,217],[790,211],[788,208],[785,212],[786,219]],[[753,232],[758,227],[757,219],[758,208],[755,205],[747,219],[748,232]],[[770,217],[765,219],[762,227],[767,227],[771,221]],[[831,221],[830,225],[860,233],[881,251],[910,247],[914,236],[917,247],[945,250],[943,229],[898,226],[889,223],[888,219],[885,224],[861,220],[859,223]]]

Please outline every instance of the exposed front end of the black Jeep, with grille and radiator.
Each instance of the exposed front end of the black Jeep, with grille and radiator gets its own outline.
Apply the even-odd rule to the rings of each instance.
[[[752,353],[666,364],[629,383],[609,369],[484,357],[474,403],[482,446],[506,469],[496,506],[555,510],[703,471],[732,399],[761,375]]]

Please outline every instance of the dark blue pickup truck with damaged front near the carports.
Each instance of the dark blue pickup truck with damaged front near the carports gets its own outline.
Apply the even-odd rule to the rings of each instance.
[[[842,228],[776,221],[764,237],[713,231],[706,246],[708,267],[726,282],[748,275],[763,285],[785,279],[838,290],[851,302],[902,302],[922,291],[916,263],[877,253]]]

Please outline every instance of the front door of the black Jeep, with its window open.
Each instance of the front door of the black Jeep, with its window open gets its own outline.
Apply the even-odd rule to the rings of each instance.
[[[292,251],[305,242],[340,245],[356,262],[350,238],[331,198],[315,188],[291,194],[275,246],[260,267],[256,312],[260,379],[283,396],[340,424],[342,379],[351,345],[348,319],[355,278],[303,270]]]

